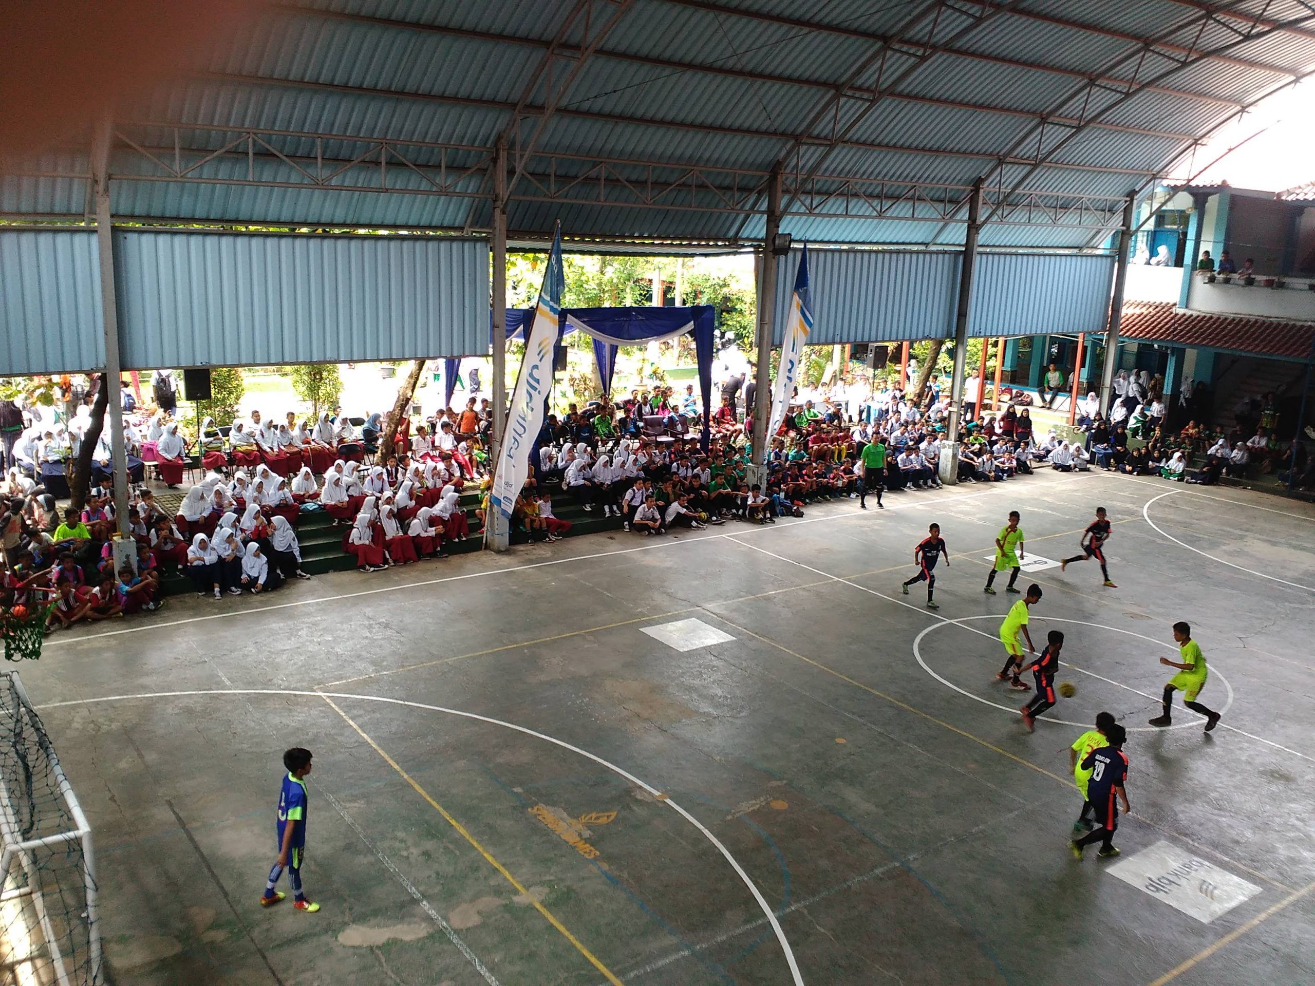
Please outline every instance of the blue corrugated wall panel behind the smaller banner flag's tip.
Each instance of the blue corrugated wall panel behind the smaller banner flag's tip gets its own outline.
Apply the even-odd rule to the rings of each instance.
[[[810,250],[810,344],[932,339],[955,331],[956,252]],[[776,333],[781,344],[800,251],[777,267]]]

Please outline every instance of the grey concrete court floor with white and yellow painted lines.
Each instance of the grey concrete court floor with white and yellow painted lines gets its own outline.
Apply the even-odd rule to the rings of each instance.
[[[114,981],[1315,982],[1315,509],[1103,473],[886,502],[188,597],[54,638],[22,677],[95,827]],[[1231,703],[1210,736],[1181,706],[1184,728],[1131,734],[1116,841],[1257,887],[1210,923],[1072,858],[1080,728],[1028,735],[992,680],[1005,514],[1059,559],[1098,505],[1119,588],[1094,563],[1035,576],[1034,639],[1064,630],[1081,669],[1051,715],[1144,727],[1170,624],[1193,623],[1202,701]],[[899,596],[931,521],[939,615]],[[730,639],[642,632],[689,618]],[[316,755],[314,916],[256,906],[293,744]]]

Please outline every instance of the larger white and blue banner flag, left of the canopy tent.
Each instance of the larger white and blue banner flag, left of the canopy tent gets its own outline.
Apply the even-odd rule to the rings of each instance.
[[[552,351],[562,333],[559,316],[563,288],[562,233],[558,230],[552,237],[552,252],[548,254],[548,268],[543,275],[539,304],[534,309],[534,322],[525,339],[525,360],[515,379],[497,471],[493,473],[493,488],[489,490],[489,502],[506,518],[512,517],[515,500],[529,479],[530,450],[543,427],[547,397],[552,389]],[[505,346],[506,340],[502,339],[501,344]]]

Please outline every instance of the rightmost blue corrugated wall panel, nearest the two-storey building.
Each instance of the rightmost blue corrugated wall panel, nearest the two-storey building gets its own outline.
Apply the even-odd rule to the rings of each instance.
[[[970,335],[1105,331],[1114,258],[1078,254],[978,254]]]

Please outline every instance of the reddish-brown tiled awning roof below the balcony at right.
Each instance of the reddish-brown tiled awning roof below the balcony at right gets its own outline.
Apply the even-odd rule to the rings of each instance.
[[[1119,337],[1306,360],[1315,325],[1184,312],[1172,301],[1126,301]]]

